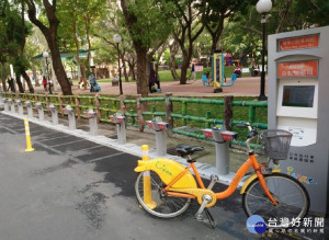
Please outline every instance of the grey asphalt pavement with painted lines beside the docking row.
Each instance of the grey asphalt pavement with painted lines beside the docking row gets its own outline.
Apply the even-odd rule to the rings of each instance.
[[[30,128],[35,151],[25,152],[23,121],[0,113],[1,240],[269,237],[248,232],[238,193],[211,209],[214,230],[194,220],[195,203],[174,219],[151,217],[135,199],[138,157],[35,124]]]

